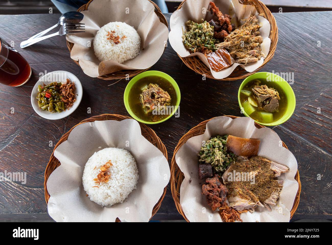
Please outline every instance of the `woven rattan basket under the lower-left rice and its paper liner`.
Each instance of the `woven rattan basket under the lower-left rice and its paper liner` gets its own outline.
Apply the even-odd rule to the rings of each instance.
[[[78,123],[77,125],[73,126],[68,132],[66,132],[64,135],[62,135],[62,137],[60,138],[60,140],[57,142],[57,144],[54,147],[54,150],[56,149],[56,147],[58,147],[63,141],[67,140],[71,130],[74,129],[74,127],[78,126],[81,123],[84,122],[94,122],[94,121],[105,121],[105,120],[116,120],[116,121],[122,121],[124,119],[132,119],[130,117],[127,116],[122,116],[122,115],[116,115],[116,114],[102,114],[100,116],[94,116],[88,119],[83,120],[82,122]],[[141,132],[142,135],[144,136],[144,138],[146,138],[151,144],[153,144],[154,146],[156,146],[162,153],[163,155],[166,157],[167,159],[167,150],[165,145],[161,142],[160,138],[157,136],[157,134],[148,126],[146,126],[143,123],[139,123],[140,127],[141,127]],[[45,175],[44,175],[44,189],[45,189],[45,200],[46,203],[48,203],[49,197],[50,195],[48,194],[47,191],[47,179],[48,177],[51,175],[51,173],[58,167],[60,166],[60,162],[58,161],[58,159],[55,158],[54,156],[54,150],[51,154],[51,157],[49,158],[49,162],[46,166],[45,169]],[[166,189],[167,186],[164,188],[164,192],[162,194],[162,196],[160,197],[160,199],[158,200],[158,202],[156,203],[156,205],[153,207],[152,210],[152,216],[156,214],[156,212],[158,211],[158,209],[160,208],[161,202],[163,201],[165,194],[166,194]],[[120,220],[117,218],[116,222],[120,222]]]

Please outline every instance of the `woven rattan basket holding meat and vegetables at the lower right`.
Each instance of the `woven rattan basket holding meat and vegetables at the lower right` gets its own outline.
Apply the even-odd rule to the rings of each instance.
[[[238,118],[238,117],[235,117],[235,116],[224,116],[224,117],[230,117],[232,119]],[[171,192],[172,192],[172,196],[173,196],[173,199],[174,199],[175,206],[176,206],[177,210],[185,218],[185,220],[187,222],[189,222],[189,220],[187,219],[186,215],[184,214],[184,212],[182,210],[182,206],[180,204],[180,187],[181,187],[181,183],[182,183],[182,181],[184,179],[184,175],[181,172],[179,166],[176,164],[175,154],[176,154],[176,152],[178,152],[178,150],[180,149],[180,147],[184,143],[187,142],[187,140],[189,138],[197,136],[197,135],[200,135],[200,134],[203,134],[205,132],[207,122],[210,121],[211,119],[206,120],[204,122],[201,122],[197,126],[195,126],[192,129],[190,129],[185,135],[183,135],[183,137],[179,140],[178,145],[174,149],[174,154],[173,154],[173,158],[172,158],[172,162],[171,162],[171,180],[170,180],[171,181]],[[262,126],[262,125],[260,125],[260,124],[258,124],[256,122],[255,122],[255,126],[257,128],[265,127],[265,126]],[[286,149],[288,149],[287,146],[286,146],[286,144],[284,142],[283,142],[283,146]],[[300,175],[299,175],[298,170],[297,170],[297,173],[295,175],[295,180],[298,182],[298,190],[297,190],[297,193],[296,193],[296,196],[295,196],[293,207],[290,210],[290,218],[293,217],[293,215],[294,215],[294,213],[296,211],[296,208],[297,208],[297,206],[298,206],[298,204],[300,202],[301,182],[300,182]]]

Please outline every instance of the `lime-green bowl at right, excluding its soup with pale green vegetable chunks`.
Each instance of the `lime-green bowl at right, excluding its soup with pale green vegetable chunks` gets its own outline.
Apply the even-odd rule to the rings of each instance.
[[[253,75],[250,75],[246,79],[244,79],[244,81],[240,85],[239,92],[237,93],[237,99],[239,101],[240,108],[242,108],[242,105],[240,102],[240,93],[241,93],[241,90],[243,89],[243,87],[247,83],[249,83],[255,79],[267,79],[268,76],[271,76],[272,82],[278,83],[278,85],[282,88],[282,90],[287,98],[287,110],[286,110],[284,116],[276,122],[262,123],[262,122],[257,122],[256,120],[255,120],[255,122],[257,122],[261,125],[264,125],[264,126],[276,126],[276,125],[280,125],[280,124],[286,122],[288,119],[290,119],[291,115],[293,115],[294,110],[295,110],[295,104],[296,104],[295,103],[295,94],[294,94],[294,91],[292,90],[292,88],[290,87],[289,83],[285,79],[283,79],[282,77],[280,77],[274,73],[257,72]],[[276,79],[276,78],[278,78],[278,79]],[[244,110],[242,110],[242,111],[246,117],[250,118],[250,116]]]

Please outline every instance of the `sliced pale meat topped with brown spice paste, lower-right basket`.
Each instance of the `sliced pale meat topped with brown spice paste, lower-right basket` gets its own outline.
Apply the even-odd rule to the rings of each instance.
[[[253,211],[257,206],[271,210],[271,206],[277,204],[284,183],[283,180],[275,178],[288,171],[287,166],[262,156],[237,160],[222,175],[229,190],[227,193],[229,206],[240,211],[244,209]],[[241,176],[244,176],[242,173],[250,173],[251,180],[229,180],[232,172],[240,173]]]

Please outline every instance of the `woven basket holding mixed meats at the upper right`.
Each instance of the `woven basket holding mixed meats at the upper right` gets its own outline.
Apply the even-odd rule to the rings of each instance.
[[[184,0],[178,7],[178,9],[181,8],[183,3],[186,0]],[[222,79],[215,79],[212,74],[210,69],[197,57],[197,56],[192,56],[192,57],[181,57],[179,54],[178,56],[180,59],[183,61],[183,63],[186,64],[190,69],[195,71],[198,74],[205,75],[208,78],[212,78],[215,80],[224,80],[224,81],[234,81],[238,79],[243,79],[246,78],[256,72],[258,72],[266,63],[268,63],[272,57],[274,56],[274,52],[276,51],[277,48],[277,43],[278,43],[278,27],[276,20],[274,16],[272,15],[271,11],[265,6],[264,3],[258,0],[239,0],[240,3],[244,5],[253,5],[257,12],[259,13],[260,16],[263,16],[265,19],[267,19],[270,24],[271,24],[271,31],[270,31],[270,39],[271,39],[271,46],[269,50],[269,54],[267,57],[264,59],[263,64],[257,68],[255,71],[252,72],[247,72],[240,66],[237,66],[235,70],[226,78]]]

